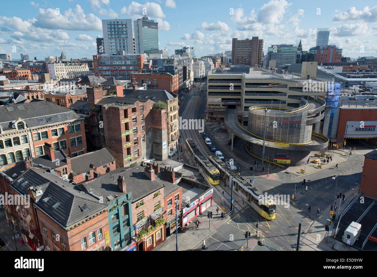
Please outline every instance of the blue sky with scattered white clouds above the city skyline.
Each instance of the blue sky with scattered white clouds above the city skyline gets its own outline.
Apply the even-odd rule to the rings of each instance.
[[[317,28],[329,28],[329,44],[343,56],[377,56],[375,1],[223,1],[223,0],[60,0],[4,1],[0,15],[0,53],[43,60],[48,56],[92,58],[103,19],[157,21],[159,49],[169,54],[193,46],[201,57],[231,51],[231,40],[259,37],[264,52],[275,44],[302,40],[303,50],[316,44]]]

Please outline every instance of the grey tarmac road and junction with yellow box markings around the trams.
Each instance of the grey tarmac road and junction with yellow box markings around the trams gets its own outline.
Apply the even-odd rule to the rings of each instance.
[[[204,120],[204,108],[206,105],[205,85],[202,85],[200,89],[204,90],[201,96],[200,92],[193,91],[185,95],[179,108],[179,116],[182,116],[182,119]],[[209,135],[216,150],[222,151],[225,145],[218,145],[207,126],[204,132]],[[181,136],[184,139],[192,138],[204,156],[208,157],[214,155],[214,152],[211,152],[208,146],[205,145],[202,134],[200,134],[198,130],[181,130]],[[184,140],[182,144],[184,144]],[[226,159],[231,158],[224,151],[222,151],[222,153]],[[187,159],[184,158],[184,161],[187,162]],[[277,205],[276,219],[266,220],[250,207],[243,208],[244,205],[241,205],[242,200],[234,194],[234,214],[226,224],[221,225],[215,233],[207,238],[207,248],[209,250],[238,250],[239,247],[245,243],[245,231],[249,230],[251,234],[256,234],[256,223],[259,221],[258,229],[260,237],[264,239],[266,245],[274,249],[296,251],[297,233],[299,223],[301,223],[302,234],[300,249],[305,247],[305,250],[324,250],[321,246],[314,244],[305,236],[308,232],[313,232],[311,228],[313,228],[312,224],[317,218],[316,208],[320,208],[322,212],[326,211],[331,202],[333,202],[336,181],[331,179],[331,177],[339,176],[336,193],[345,193],[359,184],[363,161],[363,155],[354,154],[347,157],[346,162],[340,163],[339,168],[328,168],[307,175],[305,186],[308,186],[310,193],[302,196],[295,202],[289,198],[290,195],[294,193],[295,185],[297,185],[297,188],[300,190],[302,177],[285,170],[275,170],[277,176],[279,176],[279,180],[276,181],[256,175],[254,185],[260,191],[263,193],[267,192],[273,196],[284,195],[286,199],[284,201],[285,204],[280,203]],[[235,162],[235,165],[241,168],[241,176],[246,180],[252,176],[252,173],[249,171],[249,164],[245,162]],[[224,191],[224,199],[230,197],[230,188],[224,187],[224,183],[221,181],[220,185],[214,186],[214,196],[221,197],[222,191]],[[226,200],[226,202],[229,201]],[[311,213],[308,211],[308,205],[313,207]],[[328,214],[327,212],[325,214],[321,213],[320,216],[327,217]],[[322,236],[322,233],[320,234]],[[230,240],[232,236],[234,239]],[[256,244],[254,243],[252,245],[255,246]],[[260,251],[266,249],[265,247],[259,246],[254,248],[254,250]],[[269,250],[267,249],[267,251]]]

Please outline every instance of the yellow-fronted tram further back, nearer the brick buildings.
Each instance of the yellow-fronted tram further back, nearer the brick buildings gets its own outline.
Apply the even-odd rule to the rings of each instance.
[[[208,181],[212,185],[220,184],[219,170],[202,155],[192,139],[186,139],[186,144],[190,157],[193,158],[194,161],[200,166],[205,176],[207,176]]]

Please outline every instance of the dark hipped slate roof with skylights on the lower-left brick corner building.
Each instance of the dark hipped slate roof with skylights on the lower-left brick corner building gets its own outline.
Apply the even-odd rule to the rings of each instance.
[[[35,177],[37,180],[41,179],[41,182],[44,182],[47,179],[48,181],[43,195],[35,205],[65,227],[81,222],[83,219],[107,207],[106,204],[100,203],[100,199],[51,173],[41,171],[38,173],[36,169],[31,168],[28,171],[35,171],[33,173],[36,173],[34,175],[38,174]],[[61,204],[54,208],[53,206],[58,202]]]

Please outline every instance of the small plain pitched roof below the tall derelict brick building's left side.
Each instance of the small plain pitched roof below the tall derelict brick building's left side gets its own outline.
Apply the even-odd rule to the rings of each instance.
[[[109,150],[102,148],[70,159],[72,171],[77,175],[115,161]],[[93,165],[91,167],[90,165]]]

